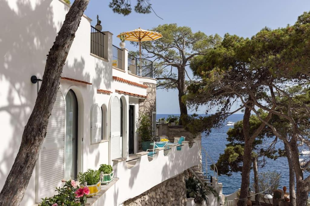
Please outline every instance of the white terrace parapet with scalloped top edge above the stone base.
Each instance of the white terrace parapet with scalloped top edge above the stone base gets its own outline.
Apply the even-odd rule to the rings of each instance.
[[[138,155],[140,159],[132,168],[127,168],[125,161],[113,166],[114,177],[119,178],[114,187],[108,189],[93,205],[120,205],[124,201],[142,194],[163,181],[175,177],[188,168],[198,165],[201,151],[201,139],[194,139],[189,148],[188,141],[184,141],[182,149],[177,151],[172,146],[167,155],[158,150],[153,160],[147,155]]]

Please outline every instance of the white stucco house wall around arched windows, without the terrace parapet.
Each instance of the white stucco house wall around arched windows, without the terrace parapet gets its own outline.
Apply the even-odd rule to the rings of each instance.
[[[61,0],[2,0],[0,8],[0,19],[6,19],[6,21],[0,21],[2,28],[0,32],[0,131],[2,133],[0,188],[2,188],[15,160],[24,126],[37,97],[37,85],[30,82],[30,77],[36,75],[42,78],[46,55],[60,30],[69,6]],[[90,25],[91,20],[83,16],[64,65],[62,77],[90,82],[92,85],[68,80],[60,81],[60,90],[64,95],[69,89],[73,89],[77,96],[80,96],[79,106],[83,111],[79,114],[80,136],[83,138],[81,162],[79,162],[81,171],[88,168],[97,169],[100,164],[110,162],[109,142],[91,145],[90,111],[92,104],[98,103],[100,106],[106,104],[108,107],[112,96],[116,95],[118,98],[123,96],[126,100],[128,119],[129,101],[135,105],[135,111],[139,111],[138,99],[129,100],[128,95],[116,93],[115,90],[146,95],[145,88],[115,82],[112,76],[137,83],[142,83],[144,80],[156,83],[154,79],[139,78],[126,71],[112,69],[113,34],[110,32],[105,32],[105,41],[108,42],[107,60],[92,56],[90,54]],[[113,93],[98,93],[98,89],[109,90]],[[136,116],[138,116],[137,113]],[[127,122],[126,126],[128,130]],[[125,145],[127,140],[128,137],[125,136]],[[124,149],[126,151],[124,156],[127,157],[128,148]],[[35,170],[36,168],[21,205],[27,206],[35,203]]]

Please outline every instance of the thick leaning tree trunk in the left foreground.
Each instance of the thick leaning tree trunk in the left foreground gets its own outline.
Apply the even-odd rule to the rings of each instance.
[[[89,0],[75,0],[48,53],[36,103],[24,128],[20,149],[0,193],[0,205],[19,205],[29,183],[57,96],[60,75]]]

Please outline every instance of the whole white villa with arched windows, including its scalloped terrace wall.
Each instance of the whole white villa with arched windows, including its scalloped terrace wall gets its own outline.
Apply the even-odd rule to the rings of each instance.
[[[46,55],[69,10],[62,0],[0,2],[0,188],[18,152],[24,126],[32,112]],[[156,79],[152,62],[139,74],[135,57],[112,45],[111,32],[91,27],[83,16],[64,65],[47,135],[21,205],[39,203],[54,194],[60,179],[114,162],[119,180],[95,205],[119,205],[198,165],[200,140],[181,151],[159,151],[152,161],[138,153],[136,132],[141,113],[156,117]],[[145,103],[147,102],[147,104]],[[139,112],[140,111],[140,112]],[[140,114],[139,114],[140,113]],[[40,117],[38,117],[40,118]],[[132,168],[129,154],[138,153]],[[113,159],[117,161],[112,161]],[[118,163],[117,163],[118,162]],[[151,176],[151,180],[149,178]],[[135,179],[134,182],[133,179]],[[147,180],[147,181],[146,181]],[[121,192],[122,195],[117,195]]]

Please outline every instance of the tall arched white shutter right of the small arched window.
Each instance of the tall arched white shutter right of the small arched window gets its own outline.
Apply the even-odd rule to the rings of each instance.
[[[120,129],[120,103],[117,97],[113,97],[111,103],[111,159],[121,157],[121,129]]]

